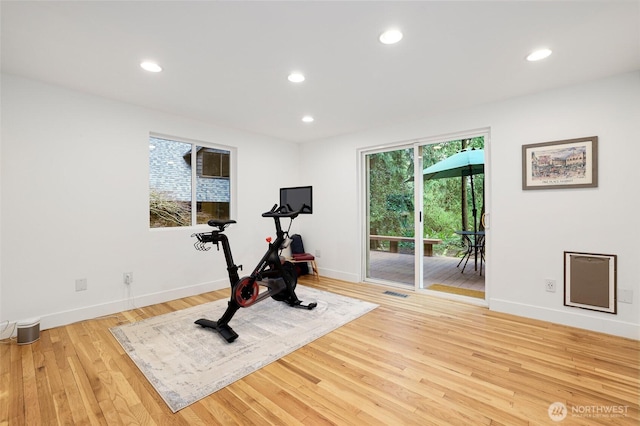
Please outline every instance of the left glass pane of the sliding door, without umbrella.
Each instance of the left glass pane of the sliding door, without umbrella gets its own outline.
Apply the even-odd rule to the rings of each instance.
[[[367,155],[367,278],[413,286],[413,148]]]

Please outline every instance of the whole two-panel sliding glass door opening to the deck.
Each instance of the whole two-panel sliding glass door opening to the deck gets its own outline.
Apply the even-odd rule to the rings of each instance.
[[[365,281],[484,292],[484,143],[475,134],[361,153]],[[478,164],[451,165],[459,156]]]

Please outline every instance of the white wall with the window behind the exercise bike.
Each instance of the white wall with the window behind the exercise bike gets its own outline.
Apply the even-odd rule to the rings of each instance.
[[[228,286],[222,252],[193,248],[206,225],[149,229],[149,132],[237,148],[228,234],[245,271],[275,234],[261,213],[299,182],[297,144],[16,76],[1,83],[0,321],[40,317],[45,329]],[[75,291],[78,278],[87,291]]]

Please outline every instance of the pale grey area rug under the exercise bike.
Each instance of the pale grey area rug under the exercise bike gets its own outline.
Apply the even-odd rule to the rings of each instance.
[[[239,337],[227,343],[200,327],[217,320],[228,299],[111,328],[111,333],[174,413],[337,329],[378,305],[298,285],[313,310],[264,300],[236,312],[229,325]]]

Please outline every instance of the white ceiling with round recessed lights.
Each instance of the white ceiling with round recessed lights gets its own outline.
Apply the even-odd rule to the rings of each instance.
[[[637,0],[3,0],[0,13],[3,72],[294,142],[640,69]],[[383,45],[390,26],[404,38]],[[524,60],[541,46],[553,55]]]

